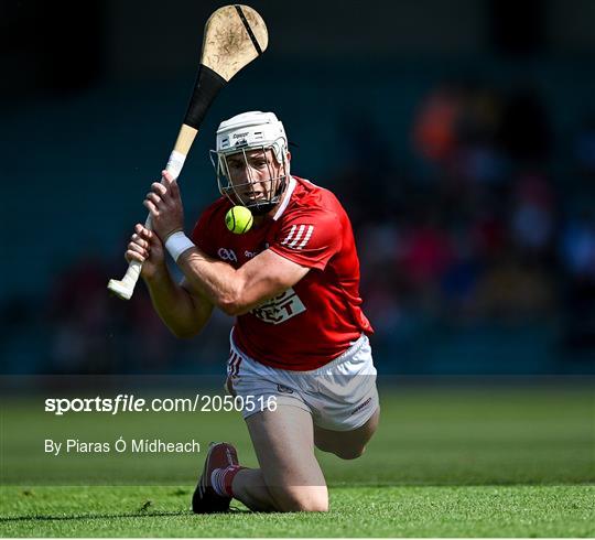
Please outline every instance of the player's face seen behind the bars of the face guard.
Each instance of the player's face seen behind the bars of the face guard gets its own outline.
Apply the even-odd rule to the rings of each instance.
[[[271,149],[238,152],[226,161],[229,181],[246,206],[271,201],[285,175],[284,165],[277,161]]]

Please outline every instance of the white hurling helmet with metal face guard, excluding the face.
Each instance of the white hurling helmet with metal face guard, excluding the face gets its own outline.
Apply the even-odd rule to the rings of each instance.
[[[273,176],[270,172],[271,186],[269,195],[264,199],[246,201],[239,195],[237,188],[242,185],[251,185],[250,168],[248,171],[248,182],[240,184],[231,182],[229,168],[227,166],[227,156],[246,153],[252,150],[273,151],[277,162],[282,166],[283,173]],[[283,123],[273,112],[261,112],[252,110],[242,112],[229,120],[225,120],[217,129],[216,150],[210,151],[210,160],[217,173],[217,184],[221,195],[227,196],[234,204],[242,204],[250,208],[255,215],[267,214],[281,199],[286,186],[288,177],[288,137]],[[235,196],[232,196],[235,195]]]

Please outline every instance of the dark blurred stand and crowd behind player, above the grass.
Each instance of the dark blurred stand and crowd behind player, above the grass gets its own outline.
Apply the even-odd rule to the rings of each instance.
[[[164,30],[140,1],[89,2],[74,28],[66,8],[3,8],[4,374],[223,371],[231,320],[178,341],[143,285],[106,291],[220,6],[174,3]],[[253,2],[271,48],[209,112],[188,227],[217,196],[217,123],[274,110],[292,171],[351,217],[380,371],[595,372],[595,6],[570,3]]]

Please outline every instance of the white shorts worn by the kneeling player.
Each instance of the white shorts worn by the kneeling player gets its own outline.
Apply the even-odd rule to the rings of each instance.
[[[292,406],[312,414],[315,425],[333,431],[361,426],[378,408],[376,368],[365,334],[339,357],[312,371],[292,371],[264,366],[239,350],[232,337],[227,367],[227,390],[259,404],[244,408],[248,418],[262,410],[267,400]]]

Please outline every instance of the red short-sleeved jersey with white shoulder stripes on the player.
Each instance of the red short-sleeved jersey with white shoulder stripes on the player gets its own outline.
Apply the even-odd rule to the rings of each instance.
[[[292,176],[275,215],[244,235],[229,231],[231,203],[220,197],[192,239],[207,255],[241,267],[271,249],[311,270],[279,296],[239,315],[236,346],[261,364],[307,371],[329,363],[372,327],[361,311],[359,260],[351,224],[335,195]]]

